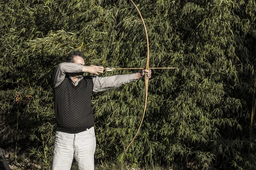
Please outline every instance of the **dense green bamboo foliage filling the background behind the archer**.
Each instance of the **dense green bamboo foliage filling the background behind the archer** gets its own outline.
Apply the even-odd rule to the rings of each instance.
[[[255,1],[135,3],[148,29],[150,67],[177,69],[153,71],[143,126],[126,154],[141,119],[143,80],[93,94],[98,162],[256,169],[254,135],[247,153]],[[0,145],[17,142],[17,154],[29,150],[44,168],[51,164],[58,63],[73,50],[85,55],[86,65],[141,68],[146,62],[142,22],[128,0],[5,0],[0,26]]]

